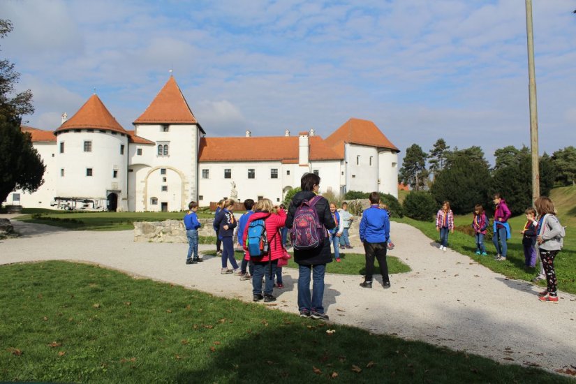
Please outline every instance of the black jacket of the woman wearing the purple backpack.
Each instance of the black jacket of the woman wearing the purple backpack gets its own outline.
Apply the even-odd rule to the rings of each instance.
[[[288,207],[288,215],[286,217],[286,227],[292,228],[294,223],[294,215],[296,213],[297,207],[300,207],[303,200],[310,200],[315,196],[312,191],[300,191],[294,195],[290,206]],[[334,220],[332,219],[332,213],[330,213],[330,203],[323,197],[316,202],[314,206],[316,208],[316,213],[318,213],[318,219],[320,223],[323,223],[326,229],[332,229],[336,226]],[[332,262],[332,253],[330,252],[330,239],[324,237],[323,246],[318,246],[315,249],[309,249],[307,251],[297,251],[294,250],[294,261],[302,265],[318,265],[327,264]]]

